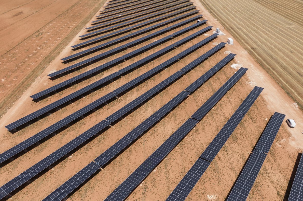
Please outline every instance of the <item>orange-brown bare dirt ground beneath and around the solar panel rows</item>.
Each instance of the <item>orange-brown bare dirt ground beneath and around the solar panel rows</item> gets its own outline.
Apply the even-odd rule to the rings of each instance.
[[[86,7],[91,3],[92,2],[82,2],[82,6]],[[98,2],[98,5],[99,3],[100,2]],[[95,5],[97,7],[96,2]],[[181,40],[182,38],[193,34],[197,30],[200,30],[206,26],[214,26],[213,29],[219,27],[221,30],[223,30],[225,35],[219,36],[215,40],[196,50],[194,53],[191,53],[176,64],[168,67],[158,75],[155,75],[153,78],[132,89],[119,99],[95,111],[91,115],[66,128],[64,131],[58,133],[56,136],[52,137],[46,142],[38,145],[11,163],[5,165],[0,169],[0,185],[5,184],[18,174],[31,167],[36,162],[45,158],[47,155],[60,148],[62,145],[69,142],[71,139],[75,138],[82,132],[86,131],[88,128],[105,119],[107,116],[123,107],[125,104],[143,94],[145,91],[147,91],[147,89],[150,89],[153,86],[157,85],[162,80],[177,70],[181,69],[186,64],[190,63],[193,59],[198,58],[198,56],[211,49],[211,47],[214,47],[220,42],[226,42],[227,38],[232,37],[227,32],[227,30],[223,29],[222,25],[201,5],[199,1],[195,0],[194,5],[196,5],[197,8],[202,12],[204,18],[208,20],[208,24],[191,30],[188,33],[178,36],[173,40],[165,42],[161,46],[157,46],[156,48],[146,53],[123,62],[122,64],[117,65],[112,69],[102,72],[88,80],[83,81],[80,84],[68,88],[51,97],[48,97],[45,100],[34,103],[31,101],[31,98],[29,97],[30,95],[35,94],[38,91],[53,86],[75,75],[78,75],[80,72],[85,72],[97,65],[122,56],[134,49],[138,49],[139,47],[151,43],[152,41],[158,40],[171,33],[181,30],[182,28],[185,28],[195,22],[179,27],[178,29],[172,30],[161,36],[148,40],[145,43],[132,47],[121,53],[115,54],[109,58],[103,59],[77,72],[71,73],[55,81],[51,81],[47,77],[47,74],[50,72],[62,69],[68,65],[82,61],[99,53],[98,52],[94,53],[93,55],[83,57],[69,64],[62,64],[60,61],[61,58],[74,53],[71,50],[70,46],[79,43],[78,36],[85,33],[84,29],[80,29],[82,27],[89,26],[90,23],[86,23],[89,22],[88,20],[90,20],[92,16],[85,21],[86,25],[82,25],[82,27],[78,28],[77,32],[73,32],[74,34],[72,34],[72,32],[68,33],[67,31],[64,37],[74,37],[75,35],[76,37],[73,40],[65,41],[64,46],[62,45],[57,47],[57,53],[60,54],[56,57],[53,57],[52,62],[49,65],[47,63],[45,69],[41,69],[38,71],[39,73],[35,74],[36,79],[33,84],[28,84],[26,86],[24,85],[23,87],[16,89],[16,91],[24,91],[23,94],[18,98],[17,101],[13,102],[14,105],[9,110],[7,110],[7,112],[6,110],[3,112],[4,115],[0,121],[1,153],[6,151],[8,148],[11,148],[13,145],[22,142],[24,139],[27,139],[28,137],[41,131],[42,129],[52,125],[63,117],[71,114],[72,112],[75,112],[76,110],[84,107],[99,97],[107,94],[115,88],[125,84],[138,75],[141,75],[142,73],[148,71],[163,61],[171,58],[172,56],[175,56],[176,54],[213,33],[212,31],[209,31],[195,38],[194,40],[185,43],[184,45],[174,49],[164,56],[161,56],[155,61],[144,65],[134,72],[125,75],[123,78],[120,78],[117,81],[101,88],[100,90],[95,91],[78,101],[75,101],[74,103],[62,108],[61,110],[52,113],[52,115],[47,116],[38,122],[33,123],[31,126],[28,126],[25,129],[22,129],[14,134],[11,134],[4,128],[4,126],[8,123],[11,123],[12,121],[17,120],[22,116],[25,116],[49,103],[52,103],[53,101],[58,100],[60,97],[64,97],[67,94],[70,94],[82,88],[83,86],[86,86],[102,77],[105,77],[106,75],[109,75],[118,69],[132,64],[138,59],[142,59],[158,51],[159,49],[162,49],[165,46],[174,43],[175,41]],[[101,6],[98,8],[100,7]],[[8,8],[5,9],[9,10]],[[92,20],[93,19],[95,18],[93,17]],[[66,17],[66,20],[70,19]],[[78,18],[78,21],[81,21],[80,16]],[[164,27],[161,27],[160,29],[162,28]],[[79,30],[80,32],[78,33]],[[47,32],[43,31],[43,33]],[[60,40],[62,40],[62,38]],[[131,40],[135,40],[137,38],[138,37],[135,37]],[[46,40],[44,38],[42,39],[42,41]],[[35,40],[35,38],[33,40]],[[102,41],[102,43],[103,42],[106,41]],[[101,50],[100,52],[104,52],[108,49],[120,46],[127,42],[129,41],[125,41],[121,44],[117,44],[115,46]],[[44,52],[44,55],[47,55],[51,51],[47,46],[49,43],[43,43],[45,46],[41,46],[41,51],[46,51]],[[12,196],[10,200],[43,199],[45,196],[59,187],[62,183],[72,177],[75,173],[77,173],[80,169],[85,167],[90,161],[94,160],[98,155],[113,145],[118,139],[121,139],[129,131],[135,128],[135,126],[137,126],[148,116],[158,110],[171,98],[175,97],[175,95],[185,89],[198,77],[203,75],[203,73],[205,73],[218,61],[223,59],[228,53],[235,53],[237,56],[215,76],[213,76],[203,86],[201,86],[199,90],[195,91],[183,103],[171,111],[171,113],[169,113],[163,120],[161,120],[157,125],[150,129],[144,136],[138,139],[130,148],[125,150],[113,162],[111,162],[95,177],[89,180],[68,200],[104,200],[240,67],[246,67],[249,70],[243,76],[243,78],[241,78],[241,80],[233,88],[231,88],[231,90],[205,116],[205,118],[197,124],[195,129],[193,129],[185,137],[185,139],[183,139],[180,144],[165,158],[165,160],[163,160],[158,165],[158,167],[142,182],[142,184],[140,184],[140,186],[135,189],[135,191],[128,197],[127,200],[165,200],[255,85],[264,87],[265,89],[255,104],[251,107],[248,114],[239,124],[235,132],[231,135],[230,139],[228,139],[227,143],[223,146],[222,150],[211,163],[205,174],[191,191],[187,200],[223,201],[226,198],[229,190],[231,189],[231,186],[235,182],[241,168],[243,167],[246,159],[252,151],[252,148],[261,135],[262,130],[275,111],[286,114],[285,120],[287,118],[295,119],[297,126],[291,129],[286,125],[285,122],[282,124],[277,138],[275,139],[275,142],[272,145],[270,152],[268,153],[265,163],[247,200],[283,200],[298,152],[302,152],[303,150],[303,134],[301,134],[301,132],[303,132],[303,115],[301,110],[296,106],[296,104],[294,104],[294,101],[287,96],[282,88],[279,87],[276,82],[261,68],[261,66],[247,53],[247,51],[241,47],[238,41],[235,40],[234,43],[235,45],[226,45],[218,53],[211,56],[211,58],[207,59],[201,65],[197,66],[191,72],[166,88],[152,100],[148,101],[145,105],[129,114],[127,117],[125,117],[124,120],[121,120],[113,127],[96,137],[96,139],[87,143],[73,155],[66,158],[64,161],[43,174],[34,182],[29,183],[25,188]],[[23,44],[23,42],[21,44]],[[19,46],[22,46],[21,44]],[[22,46],[22,48],[23,47],[25,47],[25,45]],[[14,55],[16,57],[18,53],[16,52]],[[34,59],[38,59],[39,57],[39,55],[32,55],[32,58]],[[20,69],[15,69],[15,73],[17,73],[19,70]],[[27,72],[30,72],[30,70]],[[12,85],[12,88],[16,88],[17,86],[17,84]]]

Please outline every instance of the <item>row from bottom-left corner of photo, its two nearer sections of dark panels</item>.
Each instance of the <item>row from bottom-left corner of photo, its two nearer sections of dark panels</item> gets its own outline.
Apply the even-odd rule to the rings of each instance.
[[[131,101],[130,103],[126,104],[124,107],[120,108],[112,115],[108,116],[106,120],[102,120],[100,123],[88,129],[86,132],[82,133],[81,135],[73,139],[71,142],[68,142],[66,145],[62,146],[61,148],[53,152],[51,155],[44,158],[42,161],[39,161],[37,164],[29,168],[28,170],[24,171],[22,174],[10,180],[8,183],[0,187],[0,199],[7,196],[13,190],[19,188],[25,182],[28,182],[32,177],[36,176],[38,173],[41,173],[50,165],[52,165],[53,163],[64,157],[69,152],[73,151],[75,148],[80,146],[83,142],[90,139],[92,136],[100,132],[102,129],[105,129],[111,123],[115,122],[116,120],[124,116],[126,113],[133,110],[138,105],[142,104],[144,101],[153,97],[156,93],[163,90],[166,86],[170,85],[178,78],[180,78],[181,75],[183,75],[184,73],[185,72],[183,71],[175,72],[173,75],[169,76],[155,87],[151,88],[141,96],[137,97],[135,100]]]

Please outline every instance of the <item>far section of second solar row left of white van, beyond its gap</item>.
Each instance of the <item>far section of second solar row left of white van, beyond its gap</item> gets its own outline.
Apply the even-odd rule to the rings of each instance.
[[[240,79],[241,76],[239,76],[238,79]],[[238,81],[238,79],[236,79],[236,81]],[[262,90],[263,88],[261,87],[255,87],[242,102],[241,106],[246,105],[246,107],[250,108],[255,102],[255,100],[258,98]],[[217,136],[215,136],[213,141],[208,145],[205,151],[201,154],[200,158],[211,162],[221,150],[227,139],[231,136],[231,133],[234,132],[235,128],[243,119],[247,111],[245,111],[244,113],[238,113],[236,111],[227,121],[227,123],[223,126]]]

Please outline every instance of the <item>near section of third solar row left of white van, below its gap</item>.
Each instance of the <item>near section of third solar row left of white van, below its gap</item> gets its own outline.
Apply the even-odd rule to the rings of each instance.
[[[241,69],[240,69],[241,70]],[[239,71],[240,71],[239,70]],[[232,78],[238,77],[233,75]],[[239,78],[238,78],[239,79]],[[232,79],[234,80],[234,79]],[[228,83],[228,81],[227,81]],[[214,94],[215,95],[215,94]],[[214,96],[213,95],[213,96]],[[212,97],[213,97],[212,96]],[[215,99],[212,99],[215,100]],[[213,101],[215,105],[217,101]],[[203,104],[204,105],[204,104]],[[203,107],[203,106],[202,106]],[[211,110],[211,108],[209,108]],[[124,180],[106,199],[125,200],[128,195],[154,170],[154,168],[168,155],[169,152],[194,128],[200,120],[189,118],[176,132],[174,132],[159,148],[156,149],[126,180]]]

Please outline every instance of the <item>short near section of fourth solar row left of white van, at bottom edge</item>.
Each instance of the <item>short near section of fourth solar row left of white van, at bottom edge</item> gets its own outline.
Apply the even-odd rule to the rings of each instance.
[[[85,180],[95,174],[99,169],[100,166],[98,164],[91,162],[71,178],[71,180],[74,181],[73,183],[65,182],[63,185],[57,188],[55,192],[44,198],[43,201],[64,199],[68,195],[64,193],[66,189],[72,192]]]

